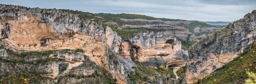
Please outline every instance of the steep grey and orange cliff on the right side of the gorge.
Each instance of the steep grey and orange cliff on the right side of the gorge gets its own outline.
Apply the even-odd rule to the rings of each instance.
[[[203,38],[188,50],[186,81],[191,84],[222,67],[256,40],[256,11]]]

